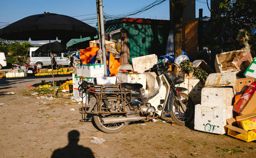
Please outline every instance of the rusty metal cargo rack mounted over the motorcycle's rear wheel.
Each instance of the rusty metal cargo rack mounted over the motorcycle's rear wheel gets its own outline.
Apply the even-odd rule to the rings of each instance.
[[[90,85],[86,94],[86,103],[82,100],[82,114],[126,114],[125,106],[132,98],[131,90],[121,85]],[[111,101],[115,103],[110,104]]]

